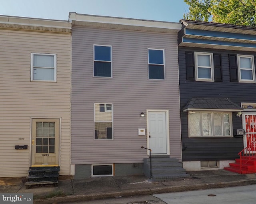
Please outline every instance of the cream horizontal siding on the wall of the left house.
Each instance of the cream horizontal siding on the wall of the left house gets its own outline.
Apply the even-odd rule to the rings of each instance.
[[[2,29],[0,36],[0,177],[28,175],[31,118],[61,118],[60,175],[70,175],[70,33]],[[31,53],[58,56],[58,82],[31,81]]]

